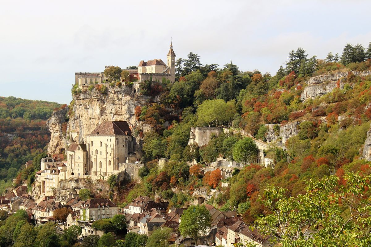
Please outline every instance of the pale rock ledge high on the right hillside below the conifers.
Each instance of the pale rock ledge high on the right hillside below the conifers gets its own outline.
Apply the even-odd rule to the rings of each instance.
[[[370,76],[371,71],[351,71],[350,73],[356,76]],[[324,74],[320,76],[311,77],[306,81],[307,86],[301,94],[301,100],[314,99],[317,96],[322,96],[326,93],[331,93],[335,87],[344,88],[344,81],[342,78],[348,75],[348,71],[337,72],[334,74]],[[337,83],[339,81],[339,83]]]

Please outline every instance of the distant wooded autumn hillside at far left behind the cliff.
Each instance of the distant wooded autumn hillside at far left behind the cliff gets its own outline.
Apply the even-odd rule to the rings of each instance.
[[[61,106],[55,102],[0,97],[0,191],[27,180],[20,168],[45,150],[49,142],[46,120]],[[31,169],[32,170],[32,169]],[[22,176],[22,174],[23,176]],[[33,179],[33,178],[32,178]]]

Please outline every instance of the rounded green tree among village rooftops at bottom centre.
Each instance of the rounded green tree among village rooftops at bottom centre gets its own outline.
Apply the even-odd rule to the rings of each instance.
[[[191,205],[181,216],[179,231],[184,237],[197,238],[209,233],[211,216],[205,205]]]

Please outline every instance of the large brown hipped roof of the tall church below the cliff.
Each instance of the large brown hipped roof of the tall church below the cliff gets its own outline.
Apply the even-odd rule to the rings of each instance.
[[[131,129],[127,121],[104,121],[99,124],[88,136],[131,136]]]

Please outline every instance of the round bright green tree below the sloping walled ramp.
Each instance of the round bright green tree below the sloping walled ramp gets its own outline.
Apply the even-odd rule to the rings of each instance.
[[[233,159],[237,162],[242,161],[246,166],[248,163],[255,161],[257,149],[255,141],[250,137],[245,137],[234,144]]]

